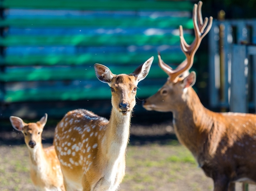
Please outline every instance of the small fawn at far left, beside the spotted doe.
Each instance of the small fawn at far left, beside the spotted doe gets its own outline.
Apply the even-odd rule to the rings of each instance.
[[[65,191],[60,163],[54,146],[43,148],[42,132],[47,114],[36,123],[25,123],[21,118],[11,116],[14,129],[24,134],[29,151],[30,176],[37,190]]]

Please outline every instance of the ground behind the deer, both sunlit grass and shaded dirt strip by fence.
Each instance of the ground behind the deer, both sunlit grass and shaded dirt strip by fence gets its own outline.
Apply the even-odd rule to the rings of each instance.
[[[134,124],[130,129],[126,176],[120,191],[210,191],[212,180],[204,175],[191,153],[176,139],[171,121]],[[54,127],[43,132],[44,146],[53,141]],[[28,153],[23,135],[0,132],[0,191],[35,190],[30,179]],[[237,183],[236,191],[242,190]],[[256,186],[249,185],[249,191]]]

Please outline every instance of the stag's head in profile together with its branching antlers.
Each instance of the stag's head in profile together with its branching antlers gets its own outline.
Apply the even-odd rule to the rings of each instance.
[[[181,102],[186,100],[187,88],[195,84],[196,73],[191,72],[189,74],[188,70],[193,65],[194,55],[202,41],[202,38],[205,37],[212,26],[212,17],[209,19],[209,24],[207,17],[204,21],[202,20],[201,7],[202,2],[199,1],[198,4],[194,5],[193,9],[195,39],[192,44],[188,45],[186,43],[183,36],[182,26],[179,27],[181,49],[186,55],[186,59],[177,66],[176,69],[172,69],[163,62],[160,54],[158,55],[158,64],[160,68],[168,74],[169,78],[156,94],[144,101],[143,107],[145,109],[161,112],[173,111],[174,109],[179,108]]]

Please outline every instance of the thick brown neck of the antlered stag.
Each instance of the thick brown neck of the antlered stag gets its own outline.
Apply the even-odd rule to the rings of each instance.
[[[192,87],[187,88],[183,95],[184,102],[173,111],[174,129],[179,141],[185,145],[194,156],[198,156],[207,140],[213,120],[201,104]]]

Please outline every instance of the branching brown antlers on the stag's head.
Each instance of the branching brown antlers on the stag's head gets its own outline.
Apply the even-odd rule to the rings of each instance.
[[[180,65],[178,65],[175,70],[173,70],[170,66],[168,66],[163,62],[163,60],[161,59],[160,53],[158,53],[158,64],[160,68],[162,68],[162,70],[164,70],[168,74],[169,80],[172,82],[176,82],[178,77],[181,76],[183,72],[191,68],[191,66],[193,65],[195,53],[203,37],[205,37],[206,34],[211,29],[212,17],[210,16],[209,18],[209,24],[208,24],[207,17],[203,21],[201,8],[202,8],[202,1],[199,1],[198,4],[195,4],[193,8],[193,24],[194,24],[194,31],[195,31],[195,39],[193,43],[191,43],[190,45],[186,43],[183,36],[183,28],[181,25],[179,26],[179,32],[180,32],[179,37],[181,39],[181,49],[183,53],[186,55],[186,59]]]

